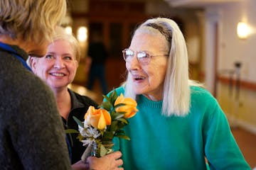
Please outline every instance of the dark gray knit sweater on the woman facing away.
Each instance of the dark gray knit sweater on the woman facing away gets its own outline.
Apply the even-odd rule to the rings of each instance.
[[[26,61],[26,52],[12,47]],[[71,169],[52,92],[13,54],[2,49],[0,169]]]

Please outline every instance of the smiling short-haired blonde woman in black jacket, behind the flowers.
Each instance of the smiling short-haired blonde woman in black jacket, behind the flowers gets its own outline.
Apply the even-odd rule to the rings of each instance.
[[[68,89],[68,84],[75,78],[79,61],[78,40],[61,28],[58,28],[53,36],[53,42],[48,45],[46,55],[41,58],[31,57],[30,60],[33,72],[52,89],[65,129],[78,130],[78,124],[75,123],[73,116],[83,121],[89,106],[98,106],[91,98]],[[86,147],[78,140],[78,134],[66,134],[66,139],[73,169],[110,170],[118,169],[118,166],[122,165],[121,152],[114,152],[102,158],[90,157],[86,161],[86,166],[81,161]]]

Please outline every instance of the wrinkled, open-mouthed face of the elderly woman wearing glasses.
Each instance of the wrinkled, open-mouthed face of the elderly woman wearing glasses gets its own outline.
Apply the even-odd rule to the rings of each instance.
[[[153,101],[162,99],[166,63],[168,60],[167,40],[164,35],[136,33],[132,38],[129,49],[134,51],[134,56],[126,62],[129,77],[132,79],[132,89],[135,94],[143,94]],[[146,51],[151,57],[148,64],[139,63],[137,52]]]

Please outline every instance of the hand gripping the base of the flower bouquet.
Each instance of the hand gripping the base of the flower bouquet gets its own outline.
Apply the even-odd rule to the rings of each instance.
[[[122,153],[117,151],[111,154],[107,154],[104,157],[88,157],[87,164],[89,164],[90,169],[94,170],[123,170],[122,166],[123,161],[120,159]]]

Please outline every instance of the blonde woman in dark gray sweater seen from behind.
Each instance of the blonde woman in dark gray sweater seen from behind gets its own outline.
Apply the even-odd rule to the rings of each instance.
[[[0,1],[1,169],[71,169],[53,93],[26,64],[45,55],[66,8],[65,0]]]

